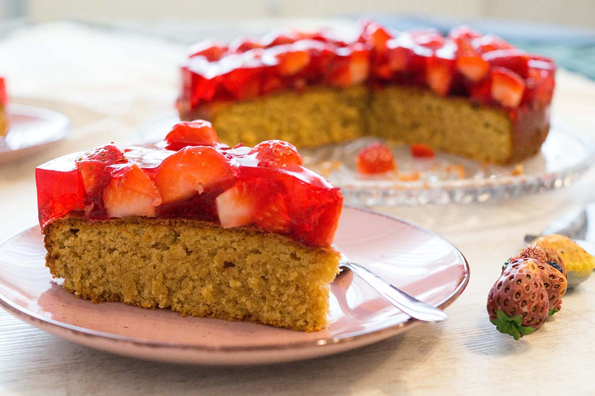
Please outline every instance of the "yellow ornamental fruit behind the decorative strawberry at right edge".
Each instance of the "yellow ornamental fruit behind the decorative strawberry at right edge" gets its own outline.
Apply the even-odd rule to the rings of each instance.
[[[575,241],[559,234],[544,235],[541,238],[551,243],[564,260],[568,272],[568,287],[578,285],[591,276],[595,268],[595,257],[585,252]]]

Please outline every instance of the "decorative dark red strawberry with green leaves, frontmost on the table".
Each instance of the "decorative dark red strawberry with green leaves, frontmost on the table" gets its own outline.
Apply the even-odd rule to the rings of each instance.
[[[509,263],[488,294],[491,323],[515,340],[536,331],[547,319],[547,291],[537,265],[534,259]]]

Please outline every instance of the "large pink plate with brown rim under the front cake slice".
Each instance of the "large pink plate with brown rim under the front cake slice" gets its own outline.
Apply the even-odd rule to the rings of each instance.
[[[402,290],[441,308],[465,289],[461,252],[433,232],[346,207],[336,246]],[[95,304],[75,297],[45,268],[39,227],[0,244],[0,304],[45,331],[127,356],[196,364],[262,364],[323,356],[392,337],[419,323],[352,274],[332,285],[331,325],[303,333],[226,320],[183,318],[167,309]]]

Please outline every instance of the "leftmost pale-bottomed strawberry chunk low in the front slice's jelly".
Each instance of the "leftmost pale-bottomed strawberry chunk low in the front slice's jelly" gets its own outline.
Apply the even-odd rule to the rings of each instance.
[[[103,193],[108,217],[155,217],[155,206],[161,205],[161,196],[155,183],[138,165],[114,169],[110,176]]]

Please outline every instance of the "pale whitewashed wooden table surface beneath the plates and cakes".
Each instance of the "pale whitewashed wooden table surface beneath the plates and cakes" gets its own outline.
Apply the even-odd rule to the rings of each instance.
[[[0,238],[36,222],[33,169],[114,140],[170,112],[184,46],[71,23],[24,27],[0,40],[12,101],[71,118],[64,143],[0,168]],[[560,71],[553,115],[595,133],[595,84]],[[572,153],[569,153],[572,155]],[[336,356],[259,367],[146,362],[47,334],[0,310],[0,395],[595,394],[595,277],[564,297],[562,312],[514,341],[488,321],[486,297],[500,263],[527,232],[595,199],[595,171],[570,188],[508,202],[378,208],[439,232],[471,265],[449,320]]]

